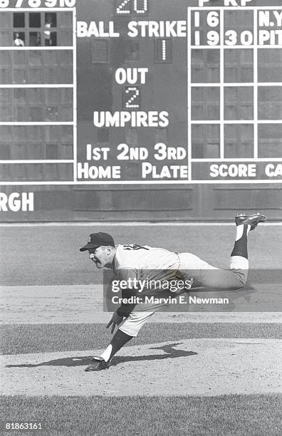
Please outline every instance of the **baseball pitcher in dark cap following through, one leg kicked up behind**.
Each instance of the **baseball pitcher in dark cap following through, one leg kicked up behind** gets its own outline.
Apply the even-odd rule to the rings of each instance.
[[[192,253],[177,253],[166,249],[136,244],[117,245],[110,234],[98,232],[90,234],[88,243],[80,251],[88,251],[89,258],[98,269],[112,269],[115,278],[125,281],[127,289],[122,290],[122,304],[113,313],[108,327],[111,333],[119,326],[112,341],[102,355],[93,358],[93,363],[86,371],[98,371],[110,367],[110,361],[130,339],[137,336],[143,324],[159,310],[165,303],[142,304],[134,297],[140,295],[138,283],[159,280],[160,293],[169,293],[162,289],[164,281],[172,279],[185,284],[184,291],[191,286],[217,290],[241,289],[246,284],[249,269],[247,239],[250,230],[254,230],[258,223],[265,222],[266,217],[261,214],[239,214],[235,217],[236,240],[231,252],[229,269],[218,269]],[[174,289],[175,290],[175,289]],[[183,287],[182,287],[183,291]],[[152,295],[156,289],[142,290],[141,294]],[[133,297],[133,299],[128,299]],[[133,303],[127,303],[133,301]]]

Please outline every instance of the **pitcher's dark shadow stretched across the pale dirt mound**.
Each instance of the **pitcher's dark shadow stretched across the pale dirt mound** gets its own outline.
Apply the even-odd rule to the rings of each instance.
[[[142,362],[145,360],[164,360],[174,359],[181,357],[188,357],[189,355],[197,355],[194,351],[177,350],[175,346],[180,346],[182,343],[172,343],[166,346],[152,347],[151,350],[161,350],[164,354],[152,354],[152,355],[136,355],[136,356],[117,356],[113,358],[111,366],[119,365],[126,362]],[[90,365],[92,356],[73,356],[68,358],[61,358],[56,360],[49,360],[48,362],[36,363],[24,363],[23,365],[6,365],[6,368],[36,368],[39,366],[84,366]]]

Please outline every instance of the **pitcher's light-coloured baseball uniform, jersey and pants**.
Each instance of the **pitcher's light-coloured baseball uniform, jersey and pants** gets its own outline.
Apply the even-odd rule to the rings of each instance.
[[[246,284],[249,262],[241,256],[232,256],[230,269],[218,269],[192,253],[174,253],[166,249],[136,244],[117,245],[114,274],[119,280],[146,281],[190,280],[193,286],[208,289],[240,289]],[[166,289],[160,296],[172,294]],[[158,293],[158,296],[159,296]],[[156,295],[155,289],[144,289],[142,295]],[[120,324],[120,330],[129,336],[137,336],[142,325],[166,303],[137,304],[130,315]]]

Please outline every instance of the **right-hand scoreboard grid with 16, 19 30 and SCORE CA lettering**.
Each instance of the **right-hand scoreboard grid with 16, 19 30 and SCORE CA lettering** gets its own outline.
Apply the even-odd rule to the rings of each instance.
[[[281,18],[279,6],[188,10],[192,181],[281,181]]]

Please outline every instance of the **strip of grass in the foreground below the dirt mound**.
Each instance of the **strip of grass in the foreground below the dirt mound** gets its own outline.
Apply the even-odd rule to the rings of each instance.
[[[19,407],[20,406],[20,407]],[[2,416],[41,422],[40,435],[280,435],[278,395],[2,398]],[[266,412],[266,411],[270,411]],[[6,432],[10,434],[10,432]],[[23,432],[13,432],[23,435]]]

